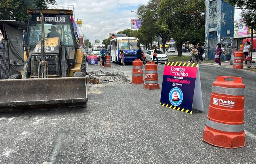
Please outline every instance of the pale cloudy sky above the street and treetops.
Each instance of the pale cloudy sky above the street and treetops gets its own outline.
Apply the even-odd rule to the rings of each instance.
[[[82,19],[82,33],[94,43],[108,38],[108,33],[117,33],[131,28],[131,19],[136,19],[140,5],[149,0],[56,0],[56,6],[74,5],[75,18]],[[241,10],[235,10],[235,20],[239,19]],[[115,30],[116,29],[116,30]],[[81,32],[80,32],[81,33]]]

